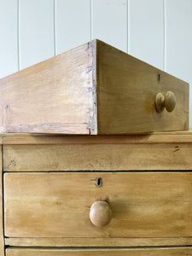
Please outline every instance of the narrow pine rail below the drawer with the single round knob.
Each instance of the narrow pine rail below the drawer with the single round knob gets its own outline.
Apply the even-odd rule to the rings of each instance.
[[[74,237],[36,237],[36,238],[5,238],[10,247],[157,247],[157,246],[190,246],[191,237],[165,238],[74,238]]]

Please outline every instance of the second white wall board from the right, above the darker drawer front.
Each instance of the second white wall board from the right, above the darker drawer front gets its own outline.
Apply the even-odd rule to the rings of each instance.
[[[163,0],[129,0],[129,54],[164,68]]]

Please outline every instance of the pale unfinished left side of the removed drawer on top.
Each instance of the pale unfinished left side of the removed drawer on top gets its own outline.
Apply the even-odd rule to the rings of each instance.
[[[90,134],[94,42],[0,79],[0,132]]]

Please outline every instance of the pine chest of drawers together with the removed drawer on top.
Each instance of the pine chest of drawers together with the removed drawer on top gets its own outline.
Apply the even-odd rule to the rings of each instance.
[[[0,256],[192,255],[189,84],[93,40],[0,98]]]

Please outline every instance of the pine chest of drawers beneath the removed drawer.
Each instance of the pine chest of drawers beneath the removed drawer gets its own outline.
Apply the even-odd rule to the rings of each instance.
[[[192,254],[190,131],[1,142],[0,255]]]

